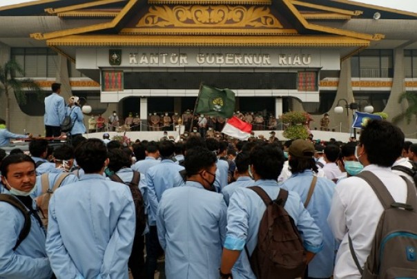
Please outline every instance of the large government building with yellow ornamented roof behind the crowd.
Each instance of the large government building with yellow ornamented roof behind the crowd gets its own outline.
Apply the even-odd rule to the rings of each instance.
[[[137,114],[143,131],[150,114],[193,110],[206,84],[233,90],[241,113],[305,111],[311,129],[328,113],[349,132],[355,110],[409,107],[416,30],[415,13],[347,0],[39,0],[0,8],[0,65],[14,59],[46,94],[61,83],[93,115]],[[44,135],[43,99],[10,96],[9,130]],[[410,138],[416,125],[398,122]]]

